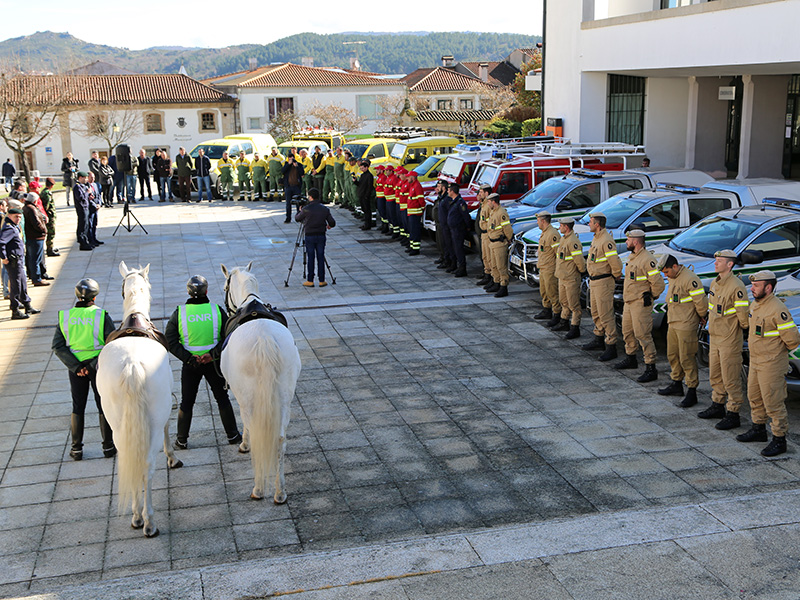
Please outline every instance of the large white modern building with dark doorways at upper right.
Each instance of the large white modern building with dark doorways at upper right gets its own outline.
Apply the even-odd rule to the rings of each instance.
[[[653,165],[800,179],[800,0],[547,3],[544,110]]]

